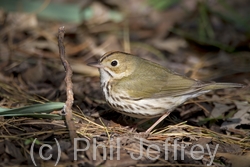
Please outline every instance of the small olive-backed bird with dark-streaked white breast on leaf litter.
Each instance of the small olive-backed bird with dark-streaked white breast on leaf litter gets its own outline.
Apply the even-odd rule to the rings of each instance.
[[[99,62],[101,88],[107,103],[136,118],[160,117],[149,133],[171,111],[188,99],[215,89],[242,87],[237,83],[204,83],[125,52],[108,52]]]

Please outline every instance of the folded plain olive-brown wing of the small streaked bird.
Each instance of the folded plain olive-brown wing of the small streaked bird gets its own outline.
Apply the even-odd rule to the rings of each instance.
[[[115,91],[123,90],[133,99],[180,96],[202,88],[200,82],[149,61],[140,63],[133,74],[113,84]]]

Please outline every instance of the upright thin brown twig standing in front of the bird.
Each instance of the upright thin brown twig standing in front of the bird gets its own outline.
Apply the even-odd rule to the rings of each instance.
[[[64,32],[65,32],[64,26],[59,27],[59,29],[58,29],[58,47],[59,47],[59,55],[60,55],[62,64],[64,66],[65,72],[66,72],[65,83],[66,83],[67,100],[66,100],[66,106],[64,108],[65,119],[66,119],[66,125],[69,129],[71,143],[73,144],[74,138],[77,138],[77,135],[76,135],[75,124],[74,124],[74,121],[72,119],[72,109],[71,109],[73,102],[74,102],[73,90],[72,90],[73,84],[71,81],[72,69],[71,69],[68,61],[66,60],[66,56],[65,56],[65,47],[63,44]]]

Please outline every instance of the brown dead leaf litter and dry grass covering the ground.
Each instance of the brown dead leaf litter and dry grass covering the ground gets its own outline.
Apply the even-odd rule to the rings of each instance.
[[[0,164],[33,165],[32,148],[37,164],[55,165],[58,155],[55,139],[58,139],[61,148],[58,165],[61,166],[234,167],[240,162],[249,166],[249,161],[243,161],[250,149],[250,67],[246,42],[249,39],[244,36],[247,29],[241,27],[244,20],[239,23],[235,18],[228,20],[231,13],[222,2],[225,3],[220,1],[213,9],[215,1],[180,1],[166,6],[165,10],[157,10],[152,2],[146,1],[86,3],[82,7],[84,12],[101,11],[104,18],[93,15],[81,23],[64,23],[67,59],[74,72],[73,120],[79,137],[77,148],[84,151],[79,150],[74,161],[76,148],[72,148],[64,120],[1,117],[0,146],[4,149],[0,151]],[[245,9],[243,2],[238,2],[235,10]],[[233,1],[227,1],[227,5],[232,4]],[[222,15],[218,13],[219,5],[226,11]],[[112,11],[116,13],[110,17]],[[37,18],[35,14],[25,18],[25,13],[1,12],[4,15],[0,15],[0,107],[65,102],[65,73],[56,39],[61,23]],[[120,20],[114,20],[118,16]],[[18,20],[25,26],[20,27]],[[211,27],[202,29],[201,23],[209,23]],[[220,33],[224,28],[230,36]],[[197,32],[198,35],[193,35]],[[145,136],[140,132],[153,120],[132,131],[131,125],[137,120],[111,111],[101,94],[98,71],[86,66],[110,50],[132,52],[204,81],[237,82],[246,87],[210,92],[190,100]],[[233,50],[236,51],[231,53]],[[43,144],[52,146],[43,150],[45,157],[52,155],[49,161],[39,155]]]

